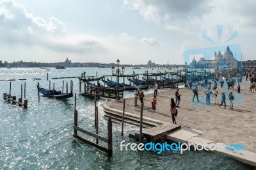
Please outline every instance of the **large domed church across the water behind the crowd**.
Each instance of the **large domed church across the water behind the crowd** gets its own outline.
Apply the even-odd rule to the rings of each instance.
[[[214,53],[214,59],[200,58],[196,62],[195,57],[190,63],[190,68],[215,68],[217,71],[223,70],[223,68],[237,68],[237,60],[234,58],[232,51],[227,47],[227,50],[221,54],[219,51]]]

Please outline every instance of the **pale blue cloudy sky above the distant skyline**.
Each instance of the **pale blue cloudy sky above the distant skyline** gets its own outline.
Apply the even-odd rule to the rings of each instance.
[[[255,0],[0,0],[0,60],[184,64],[184,50],[234,44],[253,60],[255,8]]]

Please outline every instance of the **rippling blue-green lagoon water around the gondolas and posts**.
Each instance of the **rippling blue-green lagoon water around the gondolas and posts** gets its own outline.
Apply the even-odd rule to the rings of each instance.
[[[145,70],[135,70],[135,72],[142,73]],[[0,102],[1,169],[252,169],[232,158],[206,151],[186,151],[182,155],[168,151],[161,154],[154,151],[120,151],[122,140],[125,140],[125,143],[136,142],[129,139],[127,134],[121,137],[121,125],[117,123],[113,123],[113,157],[111,158],[106,153],[74,139],[72,136],[74,97],[67,100],[41,97],[39,103],[36,83],[40,82],[40,87],[48,88],[49,82],[46,81],[48,72],[49,80],[54,82],[55,89],[59,90],[62,89],[62,81],[69,84],[70,79],[52,80],[52,77],[74,77],[84,71],[86,75],[95,75],[97,72],[100,76],[109,75],[111,68],[67,68],[66,70],[51,68],[50,71],[40,68],[0,68],[0,79],[28,79],[12,81],[12,95],[16,95],[17,98],[20,97],[20,84],[26,82],[28,110],[8,104],[3,99]],[[125,73],[132,73],[131,68],[126,68]],[[33,78],[42,80],[33,81]],[[74,92],[77,93],[78,79],[72,80]],[[9,81],[0,81],[0,86],[1,94],[9,93]],[[148,89],[145,92],[152,91]],[[129,96],[131,93],[125,92],[125,97]],[[104,102],[106,99],[99,100],[99,104]],[[92,99],[77,95],[78,125],[91,132],[95,132],[93,109]],[[104,112],[99,108],[99,134],[105,137],[107,123]],[[125,123],[126,133],[136,129],[138,127]],[[90,138],[83,136],[86,139]],[[104,145],[104,143],[100,144]]]

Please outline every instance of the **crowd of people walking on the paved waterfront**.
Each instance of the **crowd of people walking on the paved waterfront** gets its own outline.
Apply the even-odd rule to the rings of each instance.
[[[251,91],[255,91],[256,86],[256,72],[245,72],[244,76],[246,77],[246,81],[250,81],[249,85],[250,85],[250,92]],[[219,105],[220,107],[222,105],[224,105],[224,108],[226,108],[227,102],[226,100],[229,100],[229,108],[233,109],[234,108],[234,95],[233,92],[231,90],[237,89],[237,93],[241,93],[241,86],[240,86],[240,82],[242,81],[242,77],[243,75],[241,74],[237,74],[236,76],[233,77],[222,77],[221,79],[213,79],[212,81],[208,81],[208,80],[201,80],[201,81],[188,81],[188,89],[191,89],[191,91],[193,91],[193,99],[192,102],[195,102],[195,98],[197,100],[197,102],[200,102],[199,98],[198,98],[198,88],[202,88],[204,89],[204,93],[205,93],[205,101],[206,104],[211,104],[211,97],[212,97],[212,104],[216,104]],[[223,85],[227,84],[228,87],[228,91],[229,94],[226,98],[226,94],[223,92],[221,93],[221,95],[218,94],[218,86],[220,88],[223,88]],[[158,89],[158,84],[157,82],[155,82],[154,85],[154,97],[152,97],[151,100],[151,105],[152,105],[152,112],[156,112],[156,104],[157,104],[157,89]],[[181,94],[179,94],[179,88],[177,88],[177,90],[175,91],[175,98],[171,98],[171,102],[170,102],[170,111],[169,113],[172,115],[172,121],[173,123],[176,124],[176,120],[175,117],[177,116],[178,110],[177,108],[179,108],[179,104],[180,104],[180,97]],[[144,106],[144,102],[143,102],[143,98],[145,97],[143,91],[140,89],[140,91],[138,91],[137,89],[134,91],[134,106],[138,106],[137,101],[138,98],[140,98],[140,102],[141,105]],[[219,98],[220,101],[219,102]]]

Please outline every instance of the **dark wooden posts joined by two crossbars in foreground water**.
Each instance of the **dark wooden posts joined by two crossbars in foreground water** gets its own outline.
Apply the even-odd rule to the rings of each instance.
[[[79,139],[83,141],[84,143],[90,144],[91,146],[105,151],[108,153],[108,156],[111,157],[113,155],[113,139],[112,139],[112,120],[109,118],[108,120],[108,137],[102,137],[99,134],[94,134],[93,132],[89,132],[88,130],[84,130],[83,128],[78,127],[77,125],[78,122],[78,112],[76,110],[76,94],[75,94],[75,109],[74,109],[74,134],[73,136],[76,137],[76,139]],[[82,132],[83,134],[90,135],[91,137],[95,137],[97,140],[103,141],[105,143],[108,143],[108,148],[104,146],[100,146],[99,141],[97,143],[93,143],[92,141],[89,141],[88,139],[84,139],[83,137],[77,135],[77,131]]]

